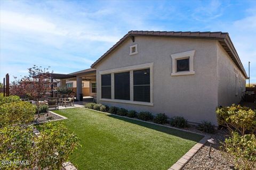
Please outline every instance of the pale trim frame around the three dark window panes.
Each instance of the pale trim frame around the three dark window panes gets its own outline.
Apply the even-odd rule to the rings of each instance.
[[[133,71],[134,70],[141,70],[141,69],[149,69],[150,70],[150,102],[133,101]],[[114,73],[126,72],[126,71],[130,71],[130,100],[115,99]],[[101,101],[111,101],[111,102],[117,102],[117,103],[154,106],[154,103],[153,103],[153,63],[132,65],[132,66],[121,67],[121,68],[117,68],[117,69],[99,71],[99,74],[100,74],[100,81],[99,81],[100,93],[99,93],[99,97],[100,97]],[[102,74],[111,74],[111,99],[101,98],[101,75]]]

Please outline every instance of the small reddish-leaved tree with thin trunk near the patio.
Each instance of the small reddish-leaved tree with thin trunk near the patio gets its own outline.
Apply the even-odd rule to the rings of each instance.
[[[39,117],[39,105],[46,96],[46,92],[51,91],[50,67],[42,69],[41,66],[34,65],[28,69],[28,75],[20,80],[15,79],[12,82],[11,94],[18,96],[28,96],[36,101],[37,114]]]

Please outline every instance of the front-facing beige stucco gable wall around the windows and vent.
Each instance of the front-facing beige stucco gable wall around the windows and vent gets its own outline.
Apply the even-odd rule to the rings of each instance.
[[[129,47],[138,44],[138,54],[130,56]],[[171,76],[171,54],[195,50],[194,75]],[[143,106],[100,100],[99,71],[145,63],[153,66],[153,103]],[[183,116],[190,122],[203,120],[217,125],[218,105],[217,41],[203,39],[135,37],[126,40],[97,65],[97,101],[108,106],[124,107],[154,114]]]

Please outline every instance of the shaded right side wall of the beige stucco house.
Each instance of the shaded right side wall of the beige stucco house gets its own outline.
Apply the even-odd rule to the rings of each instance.
[[[217,62],[218,106],[238,104],[245,92],[245,77],[219,43],[217,43]]]

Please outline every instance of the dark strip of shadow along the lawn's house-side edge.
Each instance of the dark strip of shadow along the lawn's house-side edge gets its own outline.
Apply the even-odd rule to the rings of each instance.
[[[121,120],[121,121],[137,124],[137,125],[149,128],[149,129],[154,129],[159,132],[175,135],[176,137],[180,137],[180,138],[195,141],[195,142],[198,142],[199,140],[201,140],[203,138],[203,135],[185,132],[185,131],[181,131],[181,130],[176,130],[176,129],[172,129],[172,128],[166,128],[161,125],[155,125],[155,124],[151,124],[151,123],[147,123],[147,122],[141,122],[139,120],[132,120],[130,118],[119,117],[116,115],[107,115],[107,116],[117,118],[118,120]]]

